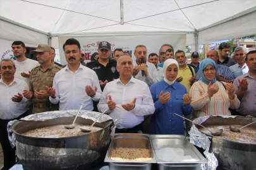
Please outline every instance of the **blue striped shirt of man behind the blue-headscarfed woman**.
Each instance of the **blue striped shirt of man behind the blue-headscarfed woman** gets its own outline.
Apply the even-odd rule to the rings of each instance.
[[[233,72],[229,69],[229,67],[225,65],[217,64],[217,73],[219,73],[219,76],[223,77],[224,79],[227,79],[232,82],[235,81]],[[199,81],[200,77],[201,77],[201,73],[200,71],[198,71],[197,74],[195,75],[195,82]]]

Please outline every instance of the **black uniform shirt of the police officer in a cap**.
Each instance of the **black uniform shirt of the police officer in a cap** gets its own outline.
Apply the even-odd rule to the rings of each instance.
[[[105,82],[107,80],[108,82],[111,82],[114,79],[119,79],[119,72],[116,70],[116,64],[116,60],[109,59],[109,62],[105,67],[99,63],[99,59],[97,59],[92,62],[87,62],[86,66],[96,72],[99,81]],[[104,88],[101,87],[102,91],[103,89]]]

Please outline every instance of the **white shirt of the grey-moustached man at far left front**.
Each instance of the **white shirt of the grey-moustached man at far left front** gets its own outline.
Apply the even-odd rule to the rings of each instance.
[[[27,99],[23,96],[20,103],[13,102],[12,97],[20,93],[23,95],[23,90],[28,90],[28,84],[20,79],[13,79],[9,85],[6,85],[3,79],[0,80],[0,118],[9,120],[17,118],[28,110]]]

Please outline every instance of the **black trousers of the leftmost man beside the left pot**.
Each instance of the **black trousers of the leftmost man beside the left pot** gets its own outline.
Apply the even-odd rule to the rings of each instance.
[[[11,144],[9,144],[8,133],[7,133],[8,122],[10,122],[11,120],[19,120],[20,118],[23,118],[27,115],[28,115],[28,111],[26,111],[25,113],[23,113],[22,115],[14,119],[9,119],[9,120],[0,119],[0,143],[4,153],[4,169],[3,170],[8,170],[15,165],[15,150],[11,147]]]

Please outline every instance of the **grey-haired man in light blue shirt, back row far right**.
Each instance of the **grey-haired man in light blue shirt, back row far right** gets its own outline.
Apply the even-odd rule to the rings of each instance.
[[[249,71],[249,68],[245,63],[245,58],[247,57],[247,49],[245,47],[238,46],[235,48],[234,52],[237,64],[230,66],[229,69],[232,71],[233,76],[236,79],[236,77],[246,74]]]

